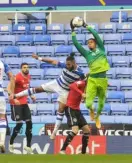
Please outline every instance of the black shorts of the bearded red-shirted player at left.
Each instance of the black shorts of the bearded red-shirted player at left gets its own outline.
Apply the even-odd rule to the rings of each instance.
[[[31,112],[28,104],[11,105],[11,118],[13,121],[25,121],[31,119]]]

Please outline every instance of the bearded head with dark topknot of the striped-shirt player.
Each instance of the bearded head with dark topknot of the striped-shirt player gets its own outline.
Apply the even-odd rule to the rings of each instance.
[[[66,58],[66,68],[69,71],[72,71],[75,69],[76,67],[76,62],[75,62],[75,58],[74,58],[75,53],[71,53],[70,56],[68,56]]]

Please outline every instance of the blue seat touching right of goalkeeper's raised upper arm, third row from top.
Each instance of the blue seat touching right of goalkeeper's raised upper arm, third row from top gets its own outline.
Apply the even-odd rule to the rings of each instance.
[[[120,44],[121,35],[120,34],[105,34],[104,44]]]

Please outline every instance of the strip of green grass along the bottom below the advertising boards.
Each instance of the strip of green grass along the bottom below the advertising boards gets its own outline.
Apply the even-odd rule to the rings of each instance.
[[[131,163],[132,155],[0,155],[1,163]]]

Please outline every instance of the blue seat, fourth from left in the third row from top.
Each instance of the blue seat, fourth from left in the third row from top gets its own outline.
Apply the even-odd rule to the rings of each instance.
[[[51,35],[51,45],[67,45],[68,36],[65,34]]]

